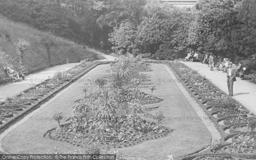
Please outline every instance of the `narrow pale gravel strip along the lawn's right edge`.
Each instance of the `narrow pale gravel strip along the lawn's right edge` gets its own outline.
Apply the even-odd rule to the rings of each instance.
[[[202,122],[207,127],[208,131],[210,132],[210,134],[212,136],[212,140],[214,140],[214,139],[221,139],[221,134],[219,133],[219,131],[216,128],[215,124],[209,119],[209,116],[203,111],[203,109],[200,107],[200,105],[198,105],[198,103],[195,101],[195,99],[193,99],[190,96],[190,94],[185,89],[183,84],[181,84],[180,82],[177,81],[177,78],[175,77],[175,75],[172,72],[172,70],[166,64],[163,64],[163,66],[169,72],[169,74],[171,75],[172,79],[175,80],[175,83],[180,88],[181,92],[186,97],[186,99],[189,101],[189,103],[192,105],[193,109],[198,114],[198,116],[201,117],[201,119],[204,119]],[[208,118],[205,118],[205,117],[208,117]]]

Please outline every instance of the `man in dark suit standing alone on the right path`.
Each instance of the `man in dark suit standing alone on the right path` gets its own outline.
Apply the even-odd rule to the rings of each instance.
[[[233,82],[236,81],[236,69],[231,68],[232,64],[228,64],[227,69],[227,88],[230,96],[233,96]]]

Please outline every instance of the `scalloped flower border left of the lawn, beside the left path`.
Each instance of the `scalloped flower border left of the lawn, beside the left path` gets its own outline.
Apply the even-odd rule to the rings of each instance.
[[[88,65],[88,69],[85,70],[84,73],[79,73],[75,79],[80,78],[81,76],[83,76],[85,73],[87,73],[90,69],[92,69],[93,67],[96,67],[97,65],[99,65],[101,63],[91,63]],[[80,64],[83,65],[83,64]],[[79,66],[76,66],[79,67]],[[76,68],[75,67],[75,68]],[[61,73],[61,75],[63,76],[63,74]],[[60,77],[58,77],[60,78]],[[60,78],[61,79],[61,78]],[[3,131],[3,129],[7,128],[9,125],[12,125],[13,122],[15,122],[17,119],[22,118],[25,114],[29,113],[30,111],[32,111],[33,109],[37,108],[39,106],[39,104],[45,102],[47,99],[49,99],[49,97],[55,95],[56,93],[58,93],[60,90],[62,90],[64,87],[66,87],[67,85],[71,84],[71,82],[65,82],[64,81],[57,79],[56,77],[53,77],[52,79],[48,79],[46,82],[41,83],[41,84],[32,84],[31,88],[24,90],[22,93],[17,94],[15,97],[9,97],[10,101],[8,100],[8,102],[2,101],[2,99],[0,99],[0,117],[1,120],[4,120],[4,122],[2,124],[0,124],[0,130]],[[58,84],[64,84],[63,87],[56,87],[56,82],[58,82]],[[46,84],[50,84],[52,86],[55,85],[55,87],[52,87],[52,89],[55,90],[49,90],[49,88],[47,88]],[[54,84],[54,85],[53,85]],[[40,96],[40,99],[38,99],[37,96]],[[37,97],[38,101],[31,101],[30,99],[35,100],[35,97]],[[28,100],[29,99],[29,100]],[[11,107],[9,108],[9,102],[11,102],[11,106],[19,106],[19,107]],[[3,104],[5,104],[5,109],[3,109]],[[20,105],[19,105],[20,104]],[[27,105],[27,106],[25,106]],[[23,110],[25,109],[25,110]]]

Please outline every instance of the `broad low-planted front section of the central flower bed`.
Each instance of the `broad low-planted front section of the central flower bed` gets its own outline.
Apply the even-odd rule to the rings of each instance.
[[[119,120],[118,125],[100,131],[96,128],[73,134],[70,132],[70,124],[62,125],[49,133],[49,137],[54,140],[66,141],[77,146],[98,145],[105,146],[110,144],[110,148],[124,148],[132,145],[138,145],[147,140],[154,140],[160,137],[166,137],[170,131],[167,128],[155,125],[153,122],[142,120],[137,129],[131,128],[130,120],[127,116]],[[92,125],[93,126],[93,125]],[[103,132],[103,133],[102,133]]]

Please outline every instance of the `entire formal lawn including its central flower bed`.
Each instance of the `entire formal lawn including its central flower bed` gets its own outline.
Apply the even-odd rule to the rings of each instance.
[[[139,59],[129,61],[124,58],[112,67],[103,64],[91,70],[82,78],[88,87],[85,81],[78,81],[57,94],[9,132],[2,147],[8,153],[46,154],[56,151],[55,147],[63,153],[84,153],[96,145],[100,153],[118,149],[124,157],[136,160],[184,156],[204,148],[211,135],[177,84],[158,80],[172,79],[163,64],[147,68]],[[122,63],[135,67],[128,70]],[[123,71],[120,74],[119,67]],[[139,74],[137,69],[147,72]],[[137,77],[128,79],[129,72]],[[88,78],[96,80],[96,85],[90,86]],[[149,88],[156,90],[151,92]],[[87,90],[87,98],[83,98],[81,89]],[[103,105],[98,105],[101,102]],[[37,120],[58,112],[64,119],[71,116],[61,122],[61,128],[54,120]]]

